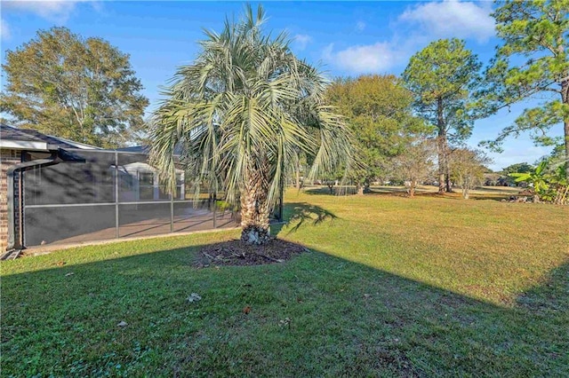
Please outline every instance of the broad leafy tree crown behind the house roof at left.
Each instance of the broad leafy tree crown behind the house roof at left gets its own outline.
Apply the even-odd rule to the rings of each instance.
[[[128,54],[67,28],[38,31],[7,51],[0,110],[21,128],[95,146],[123,146],[142,127],[140,94]]]

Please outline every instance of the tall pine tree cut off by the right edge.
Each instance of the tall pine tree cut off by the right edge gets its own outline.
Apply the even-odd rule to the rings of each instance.
[[[529,131],[541,144],[555,142],[553,126],[563,124],[565,172],[569,177],[569,1],[508,0],[497,3],[493,13],[498,47],[493,64],[486,70],[490,87],[486,99],[493,112],[536,94],[554,93],[541,106],[525,109],[513,125],[493,142]]]

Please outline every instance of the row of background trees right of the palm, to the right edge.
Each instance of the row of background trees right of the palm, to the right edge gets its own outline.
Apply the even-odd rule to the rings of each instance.
[[[439,193],[452,191],[454,181],[468,198],[469,187],[483,177],[490,162],[481,150],[465,146],[474,122],[547,93],[554,95],[525,109],[495,140],[482,145],[500,151],[505,138],[525,131],[536,144],[557,145],[541,164],[547,167],[542,171],[556,172],[548,179],[565,192],[569,176],[569,4],[559,0],[497,4],[493,17],[502,43],[484,69],[464,41],[441,39],[414,54],[401,78],[340,78],[329,88],[328,99],[346,116],[355,136],[357,158],[366,167],[349,176],[359,193],[373,181],[395,178],[405,181],[413,195],[417,183],[433,176],[431,169],[437,161]],[[381,97],[379,91],[393,96]],[[549,130],[559,123],[564,125],[564,135],[552,138]],[[338,173],[335,176],[339,178]],[[518,181],[523,177],[528,179],[518,176]],[[559,198],[557,203],[565,203],[566,195]]]

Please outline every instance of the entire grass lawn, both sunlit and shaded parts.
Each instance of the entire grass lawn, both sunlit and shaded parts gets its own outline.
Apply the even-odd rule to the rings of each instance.
[[[235,231],[2,263],[2,376],[569,375],[569,209],[289,191],[285,216],[312,252],[284,264],[192,266]]]

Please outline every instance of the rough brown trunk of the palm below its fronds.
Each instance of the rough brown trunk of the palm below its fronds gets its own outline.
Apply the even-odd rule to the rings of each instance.
[[[241,193],[241,240],[264,244],[270,240],[268,180],[260,172],[250,175]]]

